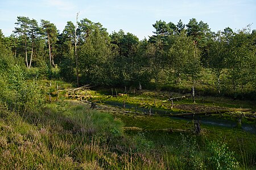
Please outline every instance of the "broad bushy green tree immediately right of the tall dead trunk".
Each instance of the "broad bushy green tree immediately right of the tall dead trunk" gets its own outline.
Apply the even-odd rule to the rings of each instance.
[[[90,27],[87,27],[85,23],[79,24],[80,39],[83,40],[79,48],[79,68],[83,78],[80,80],[84,83],[110,84],[112,52],[108,32],[102,28],[100,23],[87,21]]]

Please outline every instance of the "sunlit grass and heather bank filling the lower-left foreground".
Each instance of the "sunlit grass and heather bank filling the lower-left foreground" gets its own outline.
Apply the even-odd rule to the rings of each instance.
[[[63,101],[23,116],[1,110],[0,122],[6,169],[159,169],[154,158],[142,161],[147,154],[135,152],[120,120],[88,105]]]

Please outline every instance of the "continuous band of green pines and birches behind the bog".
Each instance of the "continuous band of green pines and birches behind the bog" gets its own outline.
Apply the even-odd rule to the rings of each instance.
[[[152,24],[154,35],[139,40],[122,30],[109,34],[89,19],[67,22],[63,32],[47,20],[39,24],[24,16],[15,24],[14,33],[1,33],[0,41],[28,68],[31,78],[61,78],[77,86],[179,86],[203,81],[216,94],[256,91],[256,31],[250,27],[212,32],[195,18],[187,24],[159,20]],[[213,82],[202,76],[206,72]]]

